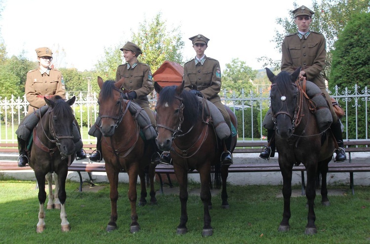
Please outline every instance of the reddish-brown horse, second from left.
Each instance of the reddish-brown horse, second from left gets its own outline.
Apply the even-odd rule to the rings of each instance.
[[[132,101],[125,100],[123,97],[121,89],[123,81],[124,78],[117,82],[111,80],[103,82],[103,79],[98,77],[98,84],[101,89],[98,104],[101,118],[100,130],[103,134],[102,150],[111,186],[111,220],[108,223],[107,231],[117,228],[118,173],[123,170],[129,177],[130,231],[135,233],[140,230],[136,213],[136,183],[139,175],[141,181],[141,198],[139,201],[141,205],[144,205],[147,202],[145,199],[147,197],[145,170],[148,166],[150,202],[156,203],[157,201],[154,191],[155,165],[150,164],[154,146],[153,143],[147,145],[140,136],[139,124],[128,110],[128,103]]]

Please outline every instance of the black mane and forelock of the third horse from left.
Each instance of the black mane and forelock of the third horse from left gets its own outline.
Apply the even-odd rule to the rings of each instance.
[[[173,104],[176,97],[176,86],[166,86],[162,89],[159,99],[158,105],[164,105],[165,103]],[[185,118],[197,118],[201,114],[201,107],[198,97],[186,90],[180,94],[180,98],[183,99],[184,104],[184,117]],[[195,120],[191,120],[195,122]]]

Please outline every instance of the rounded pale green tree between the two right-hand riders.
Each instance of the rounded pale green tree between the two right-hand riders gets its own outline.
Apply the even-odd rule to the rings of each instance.
[[[232,59],[230,64],[226,64],[226,69],[222,72],[222,91],[235,92],[239,96],[241,90],[249,93],[254,90],[252,80],[257,76],[258,71],[252,70],[244,61]]]

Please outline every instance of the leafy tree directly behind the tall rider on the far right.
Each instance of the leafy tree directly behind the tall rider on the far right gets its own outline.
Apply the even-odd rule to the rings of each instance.
[[[293,9],[297,8],[296,2],[293,3]],[[334,42],[337,40],[338,33],[343,30],[347,22],[351,19],[353,13],[367,12],[370,10],[369,0],[317,0],[312,1],[312,6],[307,6],[315,12],[312,16],[311,31],[322,33],[327,42],[327,59],[322,72],[325,79],[330,80],[329,73],[331,68]],[[275,35],[271,41],[276,43],[276,49],[281,52],[281,43],[284,36],[296,32],[294,15],[291,12],[289,18],[277,18],[277,24],[283,27],[283,32],[275,29]],[[267,57],[261,57],[266,66],[280,67],[281,61],[273,61]]]

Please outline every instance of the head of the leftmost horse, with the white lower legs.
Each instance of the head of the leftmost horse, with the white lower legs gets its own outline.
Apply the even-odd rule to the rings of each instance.
[[[49,138],[57,145],[61,154],[65,156],[72,155],[75,151],[74,136],[73,136],[73,122],[74,114],[72,105],[76,97],[71,98],[67,102],[60,96],[53,96],[52,99],[44,98],[46,105],[50,106],[48,110],[48,120],[44,120],[44,128],[49,128]],[[46,133],[46,131],[44,131]]]

